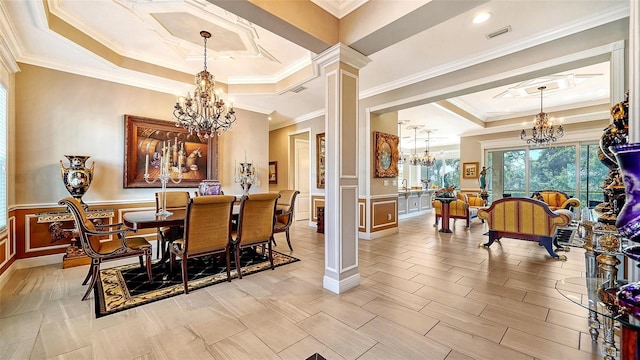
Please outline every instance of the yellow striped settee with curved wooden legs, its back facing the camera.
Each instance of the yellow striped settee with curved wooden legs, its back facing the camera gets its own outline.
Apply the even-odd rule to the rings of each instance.
[[[478,217],[489,224],[489,241],[481,246],[489,247],[502,237],[537,241],[552,257],[567,259],[554,251],[553,246],[560,247],[553,237],[559,226],[571,222],[573,213],[569,210],[551,210],[547,203],[535,199],[503,198],[480,209]]]

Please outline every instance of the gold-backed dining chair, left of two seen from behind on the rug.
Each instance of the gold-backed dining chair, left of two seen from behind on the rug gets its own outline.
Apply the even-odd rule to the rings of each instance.
[[[189,199],[184,222],[184,234],[169,246],[170,271],[176,256],[182,258],[182,284],[189,293],[187,262],[189,259],[211,254],[225,254],[227,280],[231,281],[231,212],[235,196],[208,195]]]

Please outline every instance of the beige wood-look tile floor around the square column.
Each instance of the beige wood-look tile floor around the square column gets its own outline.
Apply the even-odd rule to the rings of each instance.
[[[361,285],[322,288],[323,236],[292,228],[302,261],[96,319],[81,301],[86,267],[13,272],[0,289],[0,359],[598,359],[586,311],[556,280],[582,276],[584,252],[550,259],[536,243],[486,226],[400,222],[360,240]],[[284,234],[279,251],[289,252]]]

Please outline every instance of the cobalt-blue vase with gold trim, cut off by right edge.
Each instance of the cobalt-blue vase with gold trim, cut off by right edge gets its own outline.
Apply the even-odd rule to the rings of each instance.
[[[640,241],[640,143],[613,148],[622,172],[625,202],[616,219],[618,231],[633,241]]]

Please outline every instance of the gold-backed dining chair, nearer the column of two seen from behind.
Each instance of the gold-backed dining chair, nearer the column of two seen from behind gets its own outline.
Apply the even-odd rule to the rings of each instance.
[[[233,241],[236,268],[238,277],[242,279],[240,264],[240,252],[244,248],[266,246],[269,251],[269,263],[273,266],[273,226],[275,224],[276,201],[280,197],[278,193],[245,195],[240,201],[240,214],[238,216],[238,231]]]

